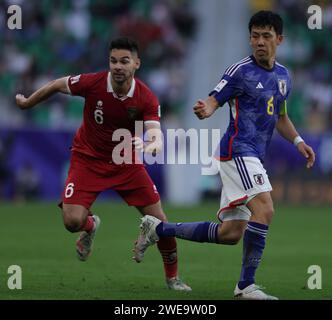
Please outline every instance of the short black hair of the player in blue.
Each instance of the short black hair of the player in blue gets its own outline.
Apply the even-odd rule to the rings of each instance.
[[[283,21],[279,14],[272,11],[261,10],[255,13],[249,21],[249,33],[252,27],[266,27],[274,28],[277,35],[282,34]]]

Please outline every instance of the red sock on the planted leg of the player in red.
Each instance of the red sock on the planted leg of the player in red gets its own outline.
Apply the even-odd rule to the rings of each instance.
[[[157,242],[157,246],[163,258],[166,278],[176,277],[178,275],[178,257],[175,238],[161,238]]]

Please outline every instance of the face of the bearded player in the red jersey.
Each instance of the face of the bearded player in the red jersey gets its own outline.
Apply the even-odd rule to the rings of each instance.
[[[140,60],[136,53],[125,49],[113,49],[110,53],[111,75],[117,84],[131,80],[139,66]]]

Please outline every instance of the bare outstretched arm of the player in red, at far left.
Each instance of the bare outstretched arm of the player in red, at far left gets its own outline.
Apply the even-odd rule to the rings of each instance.
[[[15,97],[16,104],[21,109],[30,109],[58,92],[70,94],[68,88],[68,77],[63,77],[50,81],[49,83],[45,84],[37,91],[35,91],[33,94],[31,94],[28,98],[26,98],[23,94],[17,94]]]

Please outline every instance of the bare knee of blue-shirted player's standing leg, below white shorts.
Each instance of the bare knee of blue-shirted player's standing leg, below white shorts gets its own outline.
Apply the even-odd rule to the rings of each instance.
[[[270,192],[262,192],[246,204],[251,211],[251,221],[270,224],[274,214],[273,201]]]

